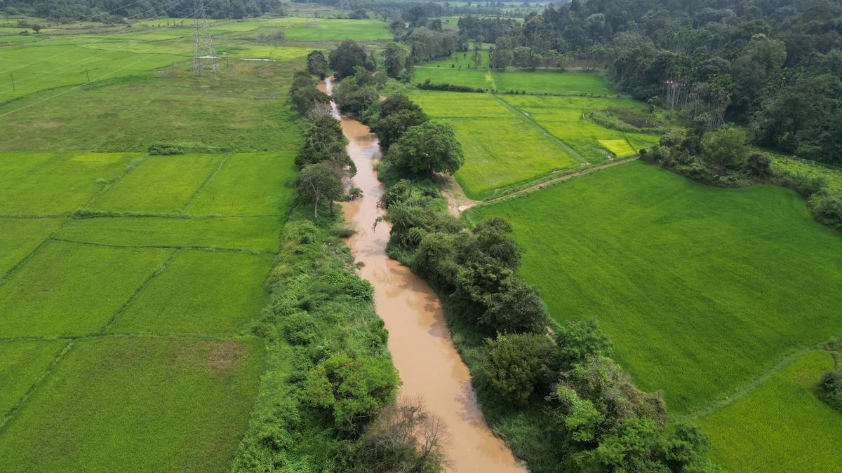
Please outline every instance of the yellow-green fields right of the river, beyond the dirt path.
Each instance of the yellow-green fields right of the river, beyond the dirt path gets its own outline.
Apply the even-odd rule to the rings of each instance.
[[[416,77],[427,72],[475,76],[477,80],[489,74],[430,68],[418,69]],[[568,82],[570,88],[605,84],[594,74],[569,76],[578,77]],[[627,98],[433,91],[414,92],[412,98],[424,112],[456,129],[465,164],[455,177],[472,199],[493,197],[549,173],[631,156],[659,139],[656,135],[610,130],[588,120],[587,114],[594,110],[645,107]]]

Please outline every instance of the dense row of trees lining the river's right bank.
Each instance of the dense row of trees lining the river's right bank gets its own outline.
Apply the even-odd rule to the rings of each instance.
[[[392,226],[387,252],[443,296],[486,417],[514,454],[534,471],[715,470],[706,437],[685,423],[667,428],[661,395],[632,384],[594,322],[548,332],[545,306],[517,275],[520,248],[507,221],[468,229],[446,211],[434,179],[461,166],[452,128],[401,95],[363,116],[386,147],[379,173],[388,184],[381,218]],[[539,410],[545,422],[507,429],[493,423],[498,413],[489,409],[510,419]],[[542,439],[540,449],[533,438]]]

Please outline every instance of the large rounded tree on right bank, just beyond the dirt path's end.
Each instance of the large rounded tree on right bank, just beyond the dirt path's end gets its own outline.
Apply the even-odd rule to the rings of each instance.
[[[411,173],[455,173],[465,158],[453,126],[428,121],[413,126],[390,148],[386,159]]]

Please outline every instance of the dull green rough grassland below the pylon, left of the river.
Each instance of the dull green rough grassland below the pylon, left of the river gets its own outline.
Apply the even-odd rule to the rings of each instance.
[[[209,73],[193,77],[189,66],[177,63],[174,71],[69,93],[34,93],[0,105],[0,152],[142,152],[153,142],[230,151],[298,149],[304,124],[290,109],[287,88],[299,63],[229,63],[223,61],[217,80]]]

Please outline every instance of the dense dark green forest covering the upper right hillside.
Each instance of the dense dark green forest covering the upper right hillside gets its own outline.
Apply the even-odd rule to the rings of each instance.
[[[513,54],[525,47],[600,62],[636,98],[711,130],[745,125],[759,146],[839,165],[840,25],[842,4],[832,0],[573,0],[528,15],[517,30],[466,19],[460,38],[496,36]]]

